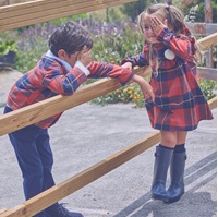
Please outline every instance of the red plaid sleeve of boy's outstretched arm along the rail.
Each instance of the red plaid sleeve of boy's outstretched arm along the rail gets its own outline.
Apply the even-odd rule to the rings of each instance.
[[[88,67],[90,72],[88,77],[100,79],[100,77],[111,77],[117,79],[121,85],[125,85],[134,75],[134,72],[123,69],[119,65],[102,62],[92,62]]]

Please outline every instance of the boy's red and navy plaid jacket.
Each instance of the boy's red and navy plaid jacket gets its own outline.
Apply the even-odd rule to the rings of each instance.
[[[125,85],[134,75],[133,72],[110,63],[92,62],[88,67],[88,77],[112,77]],[[41,101],[56,95],[72,95],[78,86],[87,80],[81,68],[74,67],[66,71],[58,60],[43,56],[37,65],[25,73],[12,86],[7,105],[16,110],[25,106]],[[58,113],[36,123],[46,129],[58,121],[62,113]]]

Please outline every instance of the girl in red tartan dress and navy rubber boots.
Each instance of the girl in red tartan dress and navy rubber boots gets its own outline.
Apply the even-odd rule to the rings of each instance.
[[[173,5],[153,4],[140,14],[144,49],[122,60],[123,68],[149,64],[155,100],[145,100],[150,123],[160,131],[156,147],[152,197],[177,202],[184,193],[185,140],[201,120],[213,119],[196,81],[195,39],[186,28],[182,12]],[[170,165],[171,183],[166,190]]]

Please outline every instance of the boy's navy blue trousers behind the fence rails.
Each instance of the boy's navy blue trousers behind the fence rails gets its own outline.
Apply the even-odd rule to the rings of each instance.
[[[4,113],[12,111],[5,107]],[[9,138],[23,174],[23,189],[28,200],[55,185],[53,165],[48,129],[34,124],[9,133]],[[55,204],[56,206],[57,204]]]

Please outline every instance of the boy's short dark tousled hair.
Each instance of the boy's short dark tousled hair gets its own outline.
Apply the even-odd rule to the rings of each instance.
[[[74,22],[59,26],[49,38],[49,49],[58,57],[58,51],[63,49],[68,55],[81,51],[84,46],[93,48],[93,39],[88,31]]]

